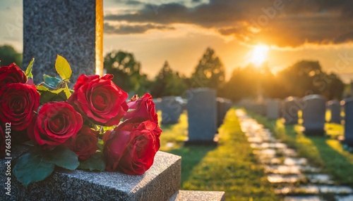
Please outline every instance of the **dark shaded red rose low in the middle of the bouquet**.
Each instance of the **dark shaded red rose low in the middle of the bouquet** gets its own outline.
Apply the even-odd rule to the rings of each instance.
[[[88,159],[98,149],[98,134],[98,131],[93,131],[90,127],[83,125],[75,140],[71,143],[70,149],[78,155],[80,160]]]

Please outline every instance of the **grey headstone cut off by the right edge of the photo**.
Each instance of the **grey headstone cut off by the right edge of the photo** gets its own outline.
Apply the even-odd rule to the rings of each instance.
[[[345,108],[345,144],[353,147],[353,98],[347,98],[342,103]]]

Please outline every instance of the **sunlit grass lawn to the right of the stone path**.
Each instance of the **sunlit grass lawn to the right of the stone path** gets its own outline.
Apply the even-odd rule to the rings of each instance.
[[[285,125],[280,120],[268,120],[261,115],[249,112],[258,122],[271,129],[277,138],[281,138],[299,155],[307,157],[317,167],[332,174],[338,184],[353,187],[353,154],[343,150],[337,136],[343,135],[339,124],[325,124],[327,136],[306,136],[299,125]]]

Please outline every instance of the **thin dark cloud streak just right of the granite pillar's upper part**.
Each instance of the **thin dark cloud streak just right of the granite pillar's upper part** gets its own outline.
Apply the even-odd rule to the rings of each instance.
[[[164,25],[109,25],[104,23],[104,32],[107,34],[143,34],[148,30],[172,30],[173,27]]]

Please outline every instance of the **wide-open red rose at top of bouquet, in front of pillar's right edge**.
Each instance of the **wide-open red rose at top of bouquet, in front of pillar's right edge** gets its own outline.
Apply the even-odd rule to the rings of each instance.
[[[119,89],[112,78],[112,74],[101,78],[99,75],[81,74],[73,86],[75,92],[68,98],[68,103],[95,124],[108,127],[119,124],[128,110],[128,94]]]

